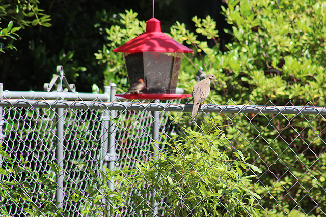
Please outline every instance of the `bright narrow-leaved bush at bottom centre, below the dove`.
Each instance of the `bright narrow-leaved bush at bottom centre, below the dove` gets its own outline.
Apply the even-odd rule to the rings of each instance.
[[[260,216],[255,208],[260,196],[251,184],[255,175],[244,170],[261,171],[238,150],[235,160],[229,158],[231,147],[214,124],[202,126],[202,133],[185,130],[165,138],[167,151],[121,170],[119,189],[139,216],[155,209],[159,216]]]

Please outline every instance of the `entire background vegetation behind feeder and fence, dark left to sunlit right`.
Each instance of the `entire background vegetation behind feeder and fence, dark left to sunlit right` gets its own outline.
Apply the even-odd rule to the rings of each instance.
[[[202,69],[218,78],[207,102],[325,106],[324,1],[229,0],[221,7],[231,26],[225,32],[220,27],[223,19],[194,14],[192,24],[188,20],[185,25],[168,16],[180,9],[173,1],[156,2],[160,10],[155,17],[164,24],[163,31],[195,51],[183,59],[179,87],[185,92],[192,91],[197,82],[194,77]],[[64,66],[69,82],[76,83],[78,91],[90,91],[93,83],[102,87],[115,82],[119,91],[128,87],[122,55],[112,50],[144,31],[151,5],[135,3],[130,10],[123,3],[115,8],[101,1],[39,3],[38,7],[47,9],[44,14],[24,9],[22,18],[36,26],[32,28],[6,14],[12,5],[4,5],[0,5],[4,8],[1,26],[7,29],[7,36],[1,35],[1,40],[14,40],[8,33],[19,39],[2,42],[6,53],[0,54],[1,79],[7,89],[41,90],[56,65]],[[17,27],[25,29],[18,31]],[[224,34],[232,36],[232,41],[222,38]],[[11,49],[13,46],[17,51]],[[205,122],[201,115],[199,121]],[[326,210],[326,153],[321,139],[326,138],[325,118],[261,114],[211,117],[225,125],[232,119],[233,125],[225,128],[230,144],[249,156],[250,163],[268,171],[256,180],[264,187],[260,205],[266,212],[273,209],[275,214],[286,215],[299,206],[302,210],[298,212],[318,216]],[[183,127],[189,125],[187,115],[179,115],[175,121]]]

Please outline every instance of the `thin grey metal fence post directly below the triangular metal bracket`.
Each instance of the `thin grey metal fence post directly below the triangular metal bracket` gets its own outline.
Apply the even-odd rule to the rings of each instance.
[[[63,204],[63,160],[64,160],[64,109],[57,109],[57,147],[56,147],[56,158],[59,166],[59,174],[57,174],[57,184],[58,189],[56,191],[56,202],[58,204],[58,208],[62,207]]]

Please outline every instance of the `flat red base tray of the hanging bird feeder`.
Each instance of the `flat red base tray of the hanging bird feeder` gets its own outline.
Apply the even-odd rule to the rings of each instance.
[[[116,94],[116,97],[123,97],[126,99],[137,99],[137,100],[173,100],[183,99],[186,97],[192,97],[191,94]]]

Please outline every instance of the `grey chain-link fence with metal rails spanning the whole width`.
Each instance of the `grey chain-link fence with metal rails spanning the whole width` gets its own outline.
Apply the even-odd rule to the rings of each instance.
[[[112,87],[0,108],[0,216],[326,215],[324,107],[212,102],[192,121]]]

